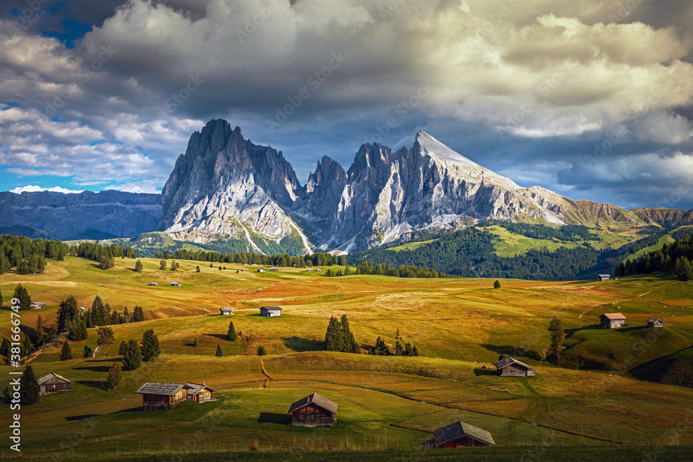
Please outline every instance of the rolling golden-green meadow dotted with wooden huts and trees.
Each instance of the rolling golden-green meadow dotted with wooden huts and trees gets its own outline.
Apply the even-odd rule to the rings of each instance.
[[[419,450],[434,429],[464,420],[489,430],[499,446],[691,445],[693,391],[635,380],[631,371],[656,364],[693,344],[693,284],[663,275],[598,283],[487,279],[406,279],[387,276],[327,278],[304,269],[258,274],[257,267],[180,261],[178,272],[159,271],[159,261],[116,259],[104,271],[69,257],[49,260],[45,274],[0,276],[7,308],[15,285],[26,285],[43,310],[21,312],[22,323],[55,320],[58,303],[74,295],[91,306],[97,294],[113,308],[134,305],[146,321],[112,326],[116,341],[95,358],[60,362],[60,348],[44,348],[32,360],[37,376],[55,372],[73,392],[42,397],[22,409],[25,456],[169,454],[170,452],[292,450]],[[195,272],[200,265],[201,272]],[[223,265],[223,264],[222,264]],[[246,272],[240,272],[246,269]],[[239,270],[239,272],[236,272]],[[324,271],[326,269],[323,270]],[[658,277],[660,276],[660,277]],[[159,287],[146,287],[158,282]],[[178,281],[183,287],[170,287]],[[258,316],[262,305],[280,305],[281,317]],[[221,316],[220,306],[236,314]],[[595,328],[602,312],[622,312],[626,328]],[[10,311],[0,310],[0,334],[8,337]],[[420,357],[326,353],[322,339],[331,316],[347,314],[362,346],[378,336],[394,346],[399,330]],[[552,316],[563,321],[563,357],[571,368],[544,359]],[[649,317],[665,320],[656,335]],[[241,335],[225,337],[229,321]],[[162,354],[123,373],[116,391],[99,386],[122,339],[141,339],[154,329]],[[198,346],[193,346],[198,339]],[[73,342],[75,357],[96,347],[95,329]],[[224,357],[215,357],[220,345]],[[267,349],[263,366],[255,356]],[[486,367],[511,354],[536,367],[536,377],[496,377]],[[578,370],[579,369],[579,370]],[[0,366],[0,385],[8,382]],[[633,374],[634,375],[634,374]],[[202,382],[220,401],[184,403],[170,411],[139,410],[132,394],[146,381]],[[288,406],[317,392],[340,406],[330,429],[286,425]],[[9,423],[6,408],[0,425]],[[671,428],[680,431],[667,433]],[[191,434],[201,432],[191,440]],[[82,436],[83,435],[83,436]],[[1,454],[10,456],[7,448]],[[33,453],[33,455],[31,455]]]

